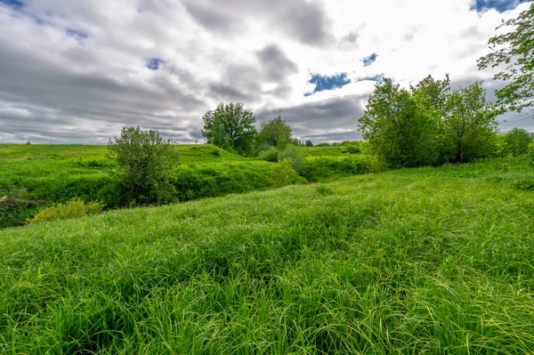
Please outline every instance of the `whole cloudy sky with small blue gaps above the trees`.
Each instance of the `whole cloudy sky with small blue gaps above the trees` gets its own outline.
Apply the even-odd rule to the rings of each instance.
[[[382,77],[504,84],[476,61],[519,0],[0,0],[0,143],[106,144],[125,126],[205,141],[243,102],[300,140],[359,140]],[[499,128],[534,131],[507,113]]]

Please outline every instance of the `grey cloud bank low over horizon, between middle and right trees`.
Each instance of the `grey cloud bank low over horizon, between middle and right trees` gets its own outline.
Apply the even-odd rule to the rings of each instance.
[[[343,141],[356,140],[358,118],[363,116],[360,101],[367,98],[368,95],[352,95],[288,108],[263,109],[256,113],[256,119],[263,122],[281,116],[301,139],[344,134]]]

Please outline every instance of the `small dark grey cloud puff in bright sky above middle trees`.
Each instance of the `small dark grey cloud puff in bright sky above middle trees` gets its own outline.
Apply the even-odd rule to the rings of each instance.
[[[288,75],[298,72],[296,63],[289,60],[276,44],[264,47],[258,52],[258,58],[265,77],[271,82],[283,81]]]

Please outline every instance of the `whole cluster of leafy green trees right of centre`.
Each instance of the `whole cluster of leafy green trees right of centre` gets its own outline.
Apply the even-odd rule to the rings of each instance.
[[[449,76],[406,90],[384,78],[369,97],[360,133],[391,166],[465,163],[495,148],[499,110],[481,82],[450,93]]]

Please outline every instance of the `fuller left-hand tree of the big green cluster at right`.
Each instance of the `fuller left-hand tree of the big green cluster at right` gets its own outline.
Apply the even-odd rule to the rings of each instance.
[[[363,138],[388,165],[436,164],[433,116],[390,78],[376,84],[359,123]]]

